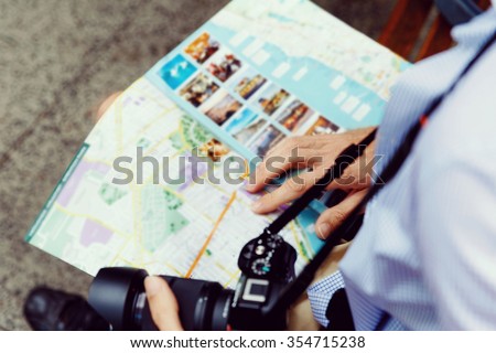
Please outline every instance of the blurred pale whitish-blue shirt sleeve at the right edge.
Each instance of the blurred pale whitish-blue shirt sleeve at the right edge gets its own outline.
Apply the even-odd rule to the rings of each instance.
[[[414,236],[442,330],[496,329],[495,61],[493,45],[417,147]]]

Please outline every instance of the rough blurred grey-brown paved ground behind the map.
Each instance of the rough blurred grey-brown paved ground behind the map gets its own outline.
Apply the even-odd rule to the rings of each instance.
[[[22,303],[35,285],[86,295],[89,276],[26,245],[24,234],[100,99],[226,2],[0,0],[0,329],[28,329]],[[316,2],[377,36],[395,0]]]

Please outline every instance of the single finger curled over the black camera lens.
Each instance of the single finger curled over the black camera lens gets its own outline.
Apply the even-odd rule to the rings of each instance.
[[[169,285],[160,277],[144,279],[144,289],[153,322],[161,331],[182,331],[179,306]]]

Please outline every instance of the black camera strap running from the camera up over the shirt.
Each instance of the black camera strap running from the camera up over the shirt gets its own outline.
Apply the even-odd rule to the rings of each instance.
[[[474,64],[481,58],[481,56],[492,46],[492,44],[496,41],[496,32],[487,40],[487,42],[478,50],[475,56],[468,62],[468,64],[464,67],[464,69],[460,73],[456,79],[452,83],[452,85],[440,96],[438,96],[424,114],[420,116],[420,118],[413,124],[413,126],[408,130],[402,143],[392,154],[389,162],[384,168],[382,172],[379,175],[381,183],[375,183],[370,186],[370,190],[362,200],[362,202],[352,211],[349,216],[335,229],[331,233],[331,235],[325,240],[323,247],[315,255],[315,257],[303,268],[300,275],[296,277],[294,281],[285,287],[282,293],[279,296],[278,300],[274,301],[274,304],[270,308],[267,308],[266,314],[270,315],[273,312],[280,312],[281,310],[288,309],[310,286],[312,282],[314,275],[319,267],[324,263],[327,258],[328,254],[333,250],[333,248],[341,243],[344,238],[349,238],[349,232],[356,228],[356,223],[360,218],[360,214],[367,203],[376,196],[382,188],[398,173],[403,162],[407,160],[410,154],[413,145],[417,140],[422,128],[425,126],[429,118],[432,116],[444,101],[444,99],[453,92],[459,82],[468,73],[468,71],[474,66]],[[269,234],[279,233],[289,222],[291,222],[301,211],[303,211],[312,200],[320,197],[324,192],[325,188],[331,184],[334,179],[337,179],[342,175],[344,169],[353,163],[353,161],[360,157],[365,148],[363,146],[368,146],[375,138],[376,130],[370,132],[364,140],[362,140],[358,145],[352,145],[346,148],[339,157],[335,160],[333,167],[330,168],[327,173],[316,182],[314,186],[312,186],[308,192],[305,192],[300,199],[293,202],[293,204],[287,208],[274,222],[268,226],[266,229]],[[362,148],[360,148],[362,146]],[[353,234],[354,235],[354,234]],[[382,330],[387,324],[390,315],[385,312],[382,318],[380,319],[376,330]]]

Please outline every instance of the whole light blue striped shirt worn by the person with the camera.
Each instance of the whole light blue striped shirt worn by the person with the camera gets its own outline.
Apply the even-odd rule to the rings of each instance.
[[[379,128],[379,171],[495,31],[492,8],[453,30],[456,46],[401,76]],[[369,202],[341,271],[308,289],[317,321],[328,323],[330,298],[345,286],[357,330],[374,330],[385,311],[391,315],[386,330],[495,330],[495,156],[493,45],[430,117],[396,178]]]

